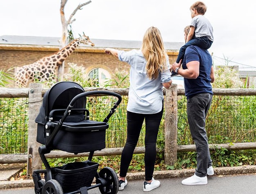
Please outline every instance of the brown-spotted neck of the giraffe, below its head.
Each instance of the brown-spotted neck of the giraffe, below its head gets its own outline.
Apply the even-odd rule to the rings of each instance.
[[[52,58],[56,58],[57,64],[61,64],[66,58],[75,51],[77,46],[80,44],[80,39],[76,39],[73,42],[70,42],[67,46],[65,46],[63,49],[56,52],[54,55],[52,55]]]

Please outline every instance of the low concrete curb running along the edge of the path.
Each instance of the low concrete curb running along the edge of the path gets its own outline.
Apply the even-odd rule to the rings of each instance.
[[[154,178],[168,179],[188,177],[194,174],[194,169],[184,170],[161,170],[154,171]],[[214,168],[215,176],[218,175],[235,175],[235,174],[254,174],[256,173],[256,165],[239,166],[239,167],[223,167]],[[127,180],[144,180],[144,172],[127,173]],[[19,181],[0,181],[0,189],[11,189],[17,187],[34,187],[32,179]]]

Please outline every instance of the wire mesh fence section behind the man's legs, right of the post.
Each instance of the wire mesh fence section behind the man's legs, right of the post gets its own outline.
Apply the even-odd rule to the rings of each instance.
[[[256,141],[256,96],[213,96],[206,117],[209,143]],[[186,97],[178,101],[178,145],[193,144],[187,115]]]

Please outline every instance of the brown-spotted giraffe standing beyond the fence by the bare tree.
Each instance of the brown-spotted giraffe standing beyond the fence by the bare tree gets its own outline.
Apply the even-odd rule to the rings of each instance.
[[[75,51],[80,43],[94,46],[89,37],[83,35],[52,55],[43,57],[32,64],[16,67],[14,75],[15,87],[24,88],[29,82],[36,80],[40,82],[54,80],[57,76],[57,67]]]

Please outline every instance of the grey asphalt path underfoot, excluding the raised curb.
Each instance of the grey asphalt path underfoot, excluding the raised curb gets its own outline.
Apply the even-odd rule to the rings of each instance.
[[[182,185],[184,178],[158,179],[159,188],[149,194],[256,194],[256,174],[214,175],[208,176],[207,185]],[[0,194],[34,194],[33,187],[0,190]],[[100,194],[98,188],[88,194]],[[125,190],[118,194],[145,194],[143,180],[128,181]]]

